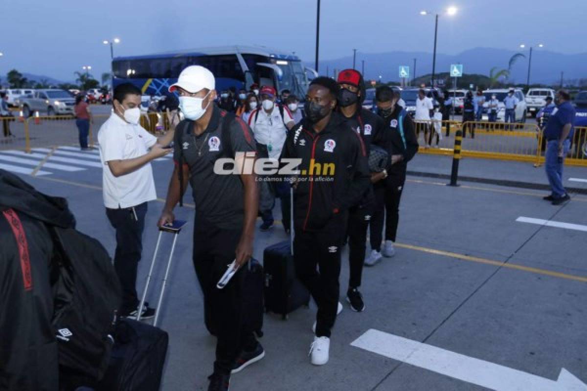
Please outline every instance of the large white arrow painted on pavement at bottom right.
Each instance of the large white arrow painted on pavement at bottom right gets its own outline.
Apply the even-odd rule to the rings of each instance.
[[[587,391],[587,386],[564,368],[554,381],[375,329],[350,345],[497,391]]]

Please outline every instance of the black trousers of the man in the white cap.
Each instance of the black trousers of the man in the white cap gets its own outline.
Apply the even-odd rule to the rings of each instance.
[[[246,315],[241,311],[242,269],[224,288],[216,287],[227,265],[234,261],[242,230],[241,227],[222,229],[202,220],[194,225],[193,261],[204,295],[204,316],[210,322],[208,329],[212,328],[218,337],[214,372],[228,375],[238,353],[257,346],[253,331],[244,329],[242,321]]]

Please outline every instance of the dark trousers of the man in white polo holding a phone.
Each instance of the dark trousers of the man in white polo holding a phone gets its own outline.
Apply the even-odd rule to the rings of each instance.
[[[136,310],[139,305],[136,288],[137,269],[143,252],[143,230],[147,209],[146,202],[134,208],[106,208],[106,216],[116,230],[114,269],[122,285],[122,314]]]

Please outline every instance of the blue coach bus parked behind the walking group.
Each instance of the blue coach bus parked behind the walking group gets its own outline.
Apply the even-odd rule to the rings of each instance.
[[[207,67],[216,77],[216,89],[249,90],[253,83],[272,86],[281,93],[289,90],[304,100],[308,91],[308,72],[292,54],[256,46],[205,47],[146,56],[115,57],[112,61],[113,86],[133,83],[144,95],[160,96],[177,81],[181,70],[190,65]]]

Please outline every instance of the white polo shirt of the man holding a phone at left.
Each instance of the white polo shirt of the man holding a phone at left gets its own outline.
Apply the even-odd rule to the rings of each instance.
[[[157,138],[141,125],[127,124],[116,114],[110,115],[100,127],[97,138],[103,164],[104,206],[110,209],[130,208],[157,199],[150,163],[118,178],[107,164],[112,160],[133,159],[147,154],[147,149],[153,147]]]

